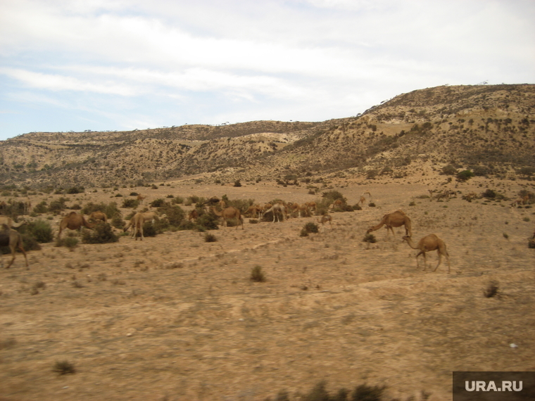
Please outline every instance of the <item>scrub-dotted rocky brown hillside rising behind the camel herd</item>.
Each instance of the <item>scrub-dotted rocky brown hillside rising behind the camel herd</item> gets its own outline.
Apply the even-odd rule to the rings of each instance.
[[[402,177],[422,165],[478,174],[535,166],[535,85],[435,87],[362,115],[325,122],[256,121],[132,132],[32,132],[0,142],[4,184],[139,184],[308,172]]]

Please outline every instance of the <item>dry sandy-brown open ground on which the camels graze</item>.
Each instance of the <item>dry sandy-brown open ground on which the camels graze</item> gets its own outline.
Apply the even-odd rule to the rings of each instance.
[[[244,230],[211,231],[213,243],[194,231],[72,251],[46,243],[28,253],[30,270],[19,254],[0,269],[0,400],[253,401],[275,400],[279,390],[298,400],[325,380],[332,391],[367,383],[387,386],[386,400],[438,401],[451,400],[452,371],[533,371],[534,209],[461,198],[487,187],[514,198],[520,182],[475,178],[436,202],[422,196],[443,178],[409,181],[333,183],[349,204],[370,191],[376,206],[332,213],[332,227],[306,237],[299,233],[316,217],[246,219]],[[118,192],[146,201],[321,195],[263,182],[168,184]],[[83,205],[113,195],[68,197]],[[412,219],[415,241],[434,233],[446,242],[450,274],[445,261],[433,272],[436,252],[426,272],[417,269],[403,229],[363,242],[398,209]],[[256,265],[265,282],[251,281]],[[498,292],[487,298],[491,286]],[[54,372],[61,361],[75,373]]]

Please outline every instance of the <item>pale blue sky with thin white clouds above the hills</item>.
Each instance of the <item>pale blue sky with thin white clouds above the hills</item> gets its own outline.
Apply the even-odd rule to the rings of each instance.
[[[535,83],[533,0],[0,0],[0,140],[351,117]]]

